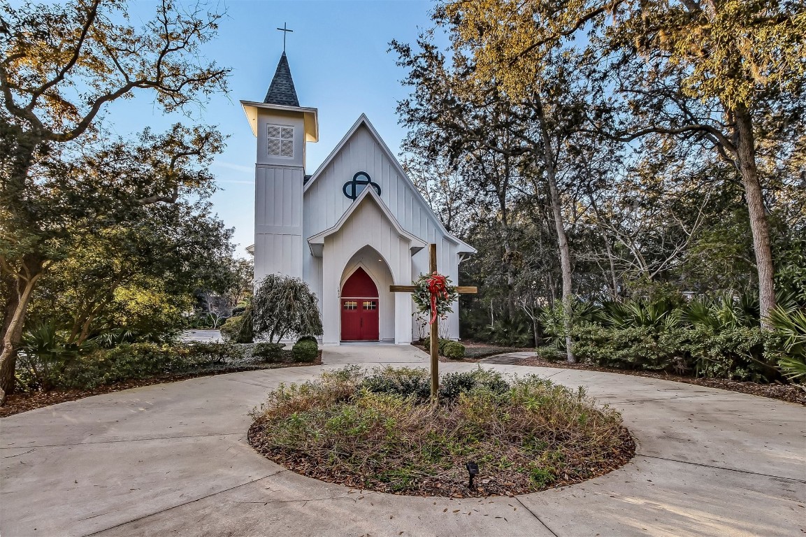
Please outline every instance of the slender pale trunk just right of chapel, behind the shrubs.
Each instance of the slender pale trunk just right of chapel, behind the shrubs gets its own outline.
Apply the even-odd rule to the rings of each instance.
[[[542,138],[543,157],[546,161],[546,179],[549,184],[549,199],[551,212],[554,215],[555,229],[557,231],[557,244],[559,246],[559,263],[563,275],[563,329],[565,331],[565,350],[569,363],[575,363],[573,352],[573,341],[571,340],[571,306],[573,290],[571,287],[571,252],[568,248],[568,239],[563,226],[563,209],[560,204],[559,191],[557,190],[557,175],[555,170],[554,148],[551,147],[548,127],[546,126],[546,116],[540,98],[537,97],[538,124],[540,127],[540,137]]]

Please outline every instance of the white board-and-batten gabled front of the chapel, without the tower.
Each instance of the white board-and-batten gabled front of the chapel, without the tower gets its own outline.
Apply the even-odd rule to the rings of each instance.
[[[397,160],[394,160],[380,137],[371,129],[368,120],[362,116],[348,133],[346,139],[339,144],[339,147],[314,173],[309,184],[306,185],[303,194],[305,204],[303,235],[305,238],[309,238],[334,227],[353,204],[353,200],[347,198],[343,193],[344,183],[351,181],[355,173],[366,172],[373,182],[380,185],[380,200],[388,207],[400,227],[422,239],[426,244],[437,244],[439,271],[451,277],[454,283],[458,283],[459,251],[467,252],[469,248],[447,236],[425,200],[422,199],[409,178],[402,173]],[[331,235],[326,239],[324,260],[313,256],[308,248],[305,248],[305,252],[303,252],[305,281],[309,282],[314,292],[322,300],[323,318],[326,319],[326,323],[328,323],[327,319],[331,319],[331,323],[340,322],[339,311],[331,306],[333,297],[338,298],[339,282],[343,281],[343,277],[345,277],[340,271],[351,259],[351,256],[364,245],[370,244],[380,253],[383,253],[382,251],[390,252],[384,255],[384,259],[389,265],[396,285],[409,285],[420,273],[428,272],[428,249],[423,248],[411,256],[408,251],[410,245],[401,243],[400,235],[397,234],[374,201],[365,199],[354,211],[350,219],[343,223],[339,236]],[[351,230],[349,238],[343,233],[348,224]],[[349,244],[345,244],[345,240]],[[378,244],[378,248],[375,244]],[[338,269],[334,264],[328,263],[328,252],[330,252],[330,256],[344,258],[339,260],[339,263],[342,264]],[[339,273],[330,274],[332,270]],[[407,343],[411,341],[412,335],[416,334],[415,323],[417,323],[413,318],[411,323],[401,323],[401,319],[411,318],[410,295],[397,293],[394,302],[395,317],[398,319],[395,341]],[[401,328],[401,326],[405,326],[405,328]],[[323,339],[325,343],[334,343],[329,339],[338,337],[335,325],[330,328],[328,330],[326,327],[326,336]],[[451,337],[459,337],[457,313],[449,315],[447,329]],[[383,331],[383,327],[381,331]],[[384,339],[383,334],[381,338]]]

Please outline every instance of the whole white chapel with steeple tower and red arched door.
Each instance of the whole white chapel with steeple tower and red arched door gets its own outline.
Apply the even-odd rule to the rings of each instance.
[[[364,114],[308,174],[305,146],[318,141],[316,108],[300,106],[285,52],[263,102],[241,101],[257,138],[255,279],[302,278],[316,293],[322,343],[410,343],[420,319],[409,293],[437,244],[440,273],[458,285],[459,263],[476,253],[448,233]],[[459,338],[459,305],[447,323]]]

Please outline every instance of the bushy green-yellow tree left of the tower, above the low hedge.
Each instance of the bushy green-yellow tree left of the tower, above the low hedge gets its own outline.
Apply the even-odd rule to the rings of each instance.
[[[197,289],[219,296],[234,280],[230,271],[232,230],[210,214],[204,202],[143,206],[124,224],[78,234],[63,259],[57,260],[35,289],[29,316],[67,331],[68,343],[108,331],[133,336],[159,336],[181,327],[186,307]],[[157,320],[147,311],[134,317],[127,298],[160,297]],[[222,310],[231,312],[226,298]],[[173,306],[176,305],[176,306]],[[177,310],[168,317],[160,310]],[[226,316],[226,315],[225,315]]]

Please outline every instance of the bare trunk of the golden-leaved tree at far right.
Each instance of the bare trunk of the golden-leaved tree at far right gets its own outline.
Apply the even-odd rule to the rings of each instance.
[[[775,269],[772,264],[770,224],[764,208],[764,193],[758,181],[755,161],[753,119],[745,106],[733,110],[736,121],[736,156],[742,185],[745,187],[747,209],[750,213],[750,231],[753,232],[753,250],[758,270],[758,303],[761,306],[761,326],[770,328],[768,316],[775,307]]]

